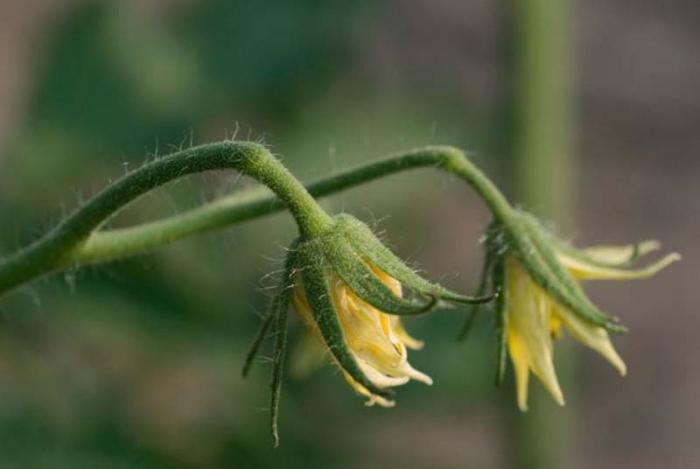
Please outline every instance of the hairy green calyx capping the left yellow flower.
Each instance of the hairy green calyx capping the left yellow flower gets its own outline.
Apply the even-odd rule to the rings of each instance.
[[[359,298],[386,314],[416,315],[432,311],[445,301],[477,304],[493,298],[493,295],[460,295],[428,282],[384,246],[364,223],[349,215],[336,216],[333,226],[325,233],[301,242],[296,258],[295,270],[334,358],[358,383],[383,397],[390,392],[367,379],[348,349],[332,299],[331,274],[337,275]],[[398,280],[411,291],[411,296],[391,291],[373,267]]]

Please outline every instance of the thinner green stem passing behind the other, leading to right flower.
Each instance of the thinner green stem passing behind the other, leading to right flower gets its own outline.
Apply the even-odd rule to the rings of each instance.
[[[306,188],[313,197],[324,197],[421,167],[435,167],[455,174],[476,189],[495,218],[503,221],[508,217],[511,207],[496,186],[467,159],[464,152],[449,146],[425,147],[373,161],[312,182]],[[173,217],[131,228],[96,232],[74,252],[72,261],[99,263],[137,254],[191,235],[276,213],[283,208],[283,203],[269,192],[255,189],[238,192]]]

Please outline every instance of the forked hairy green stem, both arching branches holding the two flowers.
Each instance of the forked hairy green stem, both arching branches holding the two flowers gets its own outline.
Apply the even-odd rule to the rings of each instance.
[[[304,236],[330,224],[312,197],[323,197],[401,171],[434,167],[459,177],[506,221],[510,205],[465,156],[449,146],[431,146],[342,171],[306,189],[261,145],[221,142],[194,147],[155,161],[106,188],[42,239],[0,262],[0,294],[44,273],[70,265],[96,264],[138,254],[217,228],[283,210],[294,215]],[[149,190],[186,174],[233,168],[268,186],[238,192],[196,209],[142,225],[99,231],[119,209]],[[262,189],[262,190],[260,190]]]

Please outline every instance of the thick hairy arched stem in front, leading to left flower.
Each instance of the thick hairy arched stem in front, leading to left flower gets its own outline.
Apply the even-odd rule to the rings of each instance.
[[[303,237],[314,236],[331,218],[306,189],[262,145],[224,141],[193,147],[127,174],[75,210],[43,238],[0,261],[0,293],[44,273],[81,262],[90,235],[120,209],[146,192],[188,174],[236,169],[268,186],[292,212]],[[187,218],[183,218],[187,222]],[[182,223],[182,220],[179,223]],[[176,223],[177,224],[177,223]],[[110,244],[110,243],[107,243]],[[104,249],[104,248],[103,248]],[[111,256],[118,247],[112,244]]]

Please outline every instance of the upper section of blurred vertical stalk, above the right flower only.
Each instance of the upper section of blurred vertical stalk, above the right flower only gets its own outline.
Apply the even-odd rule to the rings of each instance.
[[[518,196],[559,223],[573,194],[572,33],[567,0],[512,0]]]

